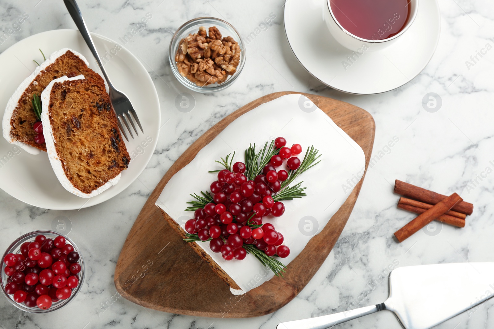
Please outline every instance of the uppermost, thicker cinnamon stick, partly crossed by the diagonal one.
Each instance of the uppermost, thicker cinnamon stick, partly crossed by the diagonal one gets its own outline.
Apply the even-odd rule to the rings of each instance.
[[[431,205],[435,205],[447,198],[446,195],[429,191],[425,188],[418,187],[399,180],[395,181],[395,193],[401,194],[401,196],[403,197],[425,202]],[[461,201],[454,205],[452,210],[465,215],[472,215],[473,204]]]

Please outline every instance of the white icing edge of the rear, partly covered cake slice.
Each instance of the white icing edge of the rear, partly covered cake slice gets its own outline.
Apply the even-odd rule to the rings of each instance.
[[[82,56],[80,53],[78,53],[75,50],[72,50],[69,48],[63,48],[63,49],[60,49],[58,51],[55,51],[50,56],[48,56],[48,58],[43,63],[41,63],[41,65],[39,65],[34,70],[33,73],[31,73],[27,78],[24,79],[24,81],[21,82],[19,87],[17,87],[17,89],[14,91],[14,93],[12,94],[10,99],[8,100],[7,105],[5,107],[5,112],[3,113],[3,120],[2,120],[3,138],[6,139],[7,142],[9,142],[9,143],[16,144],[16,145],[22,147],[28,153],[36,155],[36,154],[39,154],[41,152],[41,150],[39,148],[24,144],[21,141],[13,140],[10,137],[10,131],[12,129],[12,126],[10,125],[10,119],[12,118],[12,114],[13,114],[15,108],[17,107],[17,103],[19,102],[19,99],[21,98],[22,94],[27,89],[27,87],[29,87],[29,85],[33,82],[33,80],[36,78],[36,76],[38,76],[38,74],[40,74],[41,71],[46,69],[49,65],[55,63],[56,59],[58,57],[62,56],[63,54],[65,54],[68,50],[73,52],[76,56],[80,57],[82,59],[82,61],[84,61],[84,63],[86,63],[86,65],[89,65],[89,63],[84,58],[84,56]]]

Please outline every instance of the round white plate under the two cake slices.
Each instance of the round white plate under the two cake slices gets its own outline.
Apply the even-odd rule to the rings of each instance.
[[[153,155],[160,128],[160,102],[147,70],[127,49],[115,51],[117,42],[91,34],[100,56],[108,54],[105,69],[117,89],[127,94],[139,116],[144,134],[125,141],[131,161],[115,186],[92,198],[81,198],[62,187],[46,152],[29,154],[0,138],[0,188],[30,205],[54,210],[94,206],[122,192],[142,173]],[[101,73],[96,60],[77,30],[54,30],[27,37],[0,54],[0,118],[14,90],[42,62],[38,48],[47,56],[68,47],[80,52],[89,67]],[[110,56],[112,56],[110,58]],[[1,136],[1,135],[0,135]],[[142,143],[142,144],[141,144]]]

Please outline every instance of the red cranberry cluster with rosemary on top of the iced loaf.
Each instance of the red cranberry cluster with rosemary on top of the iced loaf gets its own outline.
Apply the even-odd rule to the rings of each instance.
[[[275,140],[279,154],[271,157],[262,174],[253,181],[247,181],[243,162],[234,163],[232,172],[221,170],[218,180],[210,185],[213,202],[197,209],[194,219],[187,220],[187,233],[197,233],[202,241],[210,240],[211,250],[221,253],[225,260],[244,259],[247,255],[244,244],[254,245],[267,256],[287,257],[290,250],[282,245],[283,234],[277,232],[273,224],[262,224],[264,216],[280,217],[285,212],[283,203],[275,202],[272,196],[280,191],[288,172],[276,171],[276,168],[283,164],[284,159],[288,159],[287,166],[291,170],[300,167],[300,160],[291,155],[300,154],[302,146],[294,144],[289,148],[286,145],[283,137]]]

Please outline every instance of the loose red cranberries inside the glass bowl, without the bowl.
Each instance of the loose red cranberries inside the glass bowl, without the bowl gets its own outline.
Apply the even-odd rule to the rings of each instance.
[[[20,254],[3,258],[8,275],[5,292],[28,307],[50,308],[52,302],[69,298],[79,284],[78,261],[79,254],[63,236],[50,239],[38,235],[21,245]]]

